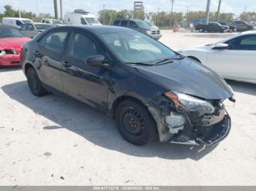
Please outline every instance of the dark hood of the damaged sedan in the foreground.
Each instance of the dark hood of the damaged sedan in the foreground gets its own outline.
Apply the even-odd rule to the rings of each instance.
[[[166,90],[205,99],[233,96],[233,91],[219,74],[191,59],[184,58],[159,66],[137,66],[135,69]]]

